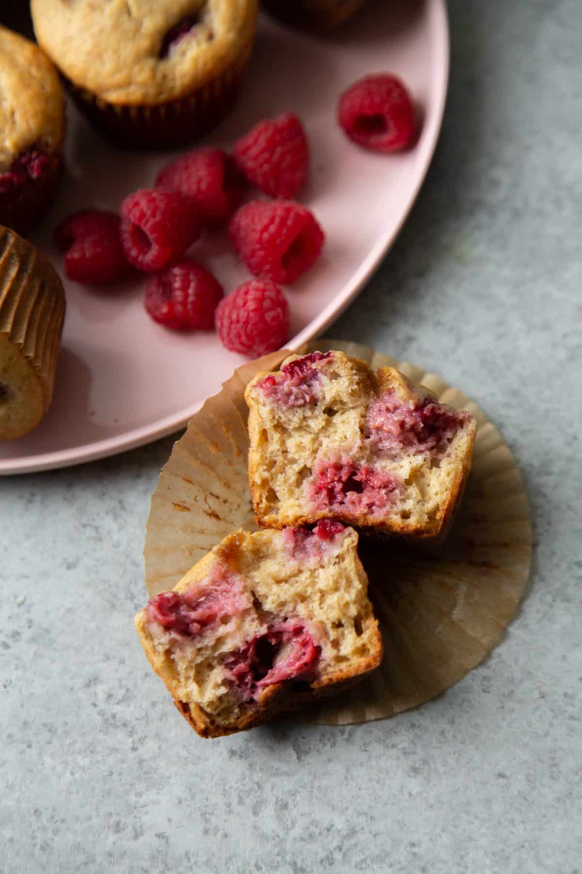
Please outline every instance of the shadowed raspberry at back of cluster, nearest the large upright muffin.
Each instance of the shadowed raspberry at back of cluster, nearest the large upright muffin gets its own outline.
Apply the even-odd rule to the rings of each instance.
[[[196,149],[169,163],[155,184],[180,191],[198,207],[202,221],[223,225],[241,202],[244,179],[223,149]]]

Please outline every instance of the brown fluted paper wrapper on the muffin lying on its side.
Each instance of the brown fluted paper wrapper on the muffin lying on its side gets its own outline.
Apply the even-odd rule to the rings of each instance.
[[[65,290],[51,262],[0,226],[0,334],[38,374],[45,413],[51,406],[64,320]]]

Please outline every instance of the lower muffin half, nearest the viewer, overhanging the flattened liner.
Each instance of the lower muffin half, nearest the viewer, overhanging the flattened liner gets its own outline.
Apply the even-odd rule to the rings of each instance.
[[[236,531],[140,610],[147,658],[202,737],[261,725],[378,667],[357,544],[331,521]]]

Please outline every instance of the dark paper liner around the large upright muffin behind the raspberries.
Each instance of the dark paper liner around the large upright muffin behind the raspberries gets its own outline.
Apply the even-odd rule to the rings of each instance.
[[[206,85],[182,97],[151,105],[110,103],[65,78],[65,84],[95,128],[131,149],[175,149],[188,145],[223,121],[236,101],[254,39],[236,61]]]

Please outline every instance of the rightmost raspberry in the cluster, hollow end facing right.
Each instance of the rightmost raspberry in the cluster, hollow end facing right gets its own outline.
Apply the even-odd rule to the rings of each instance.
[[[244,204],[229,233],[252,274],[284,284],[312,267],[325,239],[312,213],[291,200]]]

